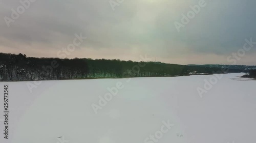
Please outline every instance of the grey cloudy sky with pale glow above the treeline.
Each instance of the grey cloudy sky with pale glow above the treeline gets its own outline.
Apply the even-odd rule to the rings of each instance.
[[[174,22],[202,0],[33,1],[14,19],[12,9],[22,4],[0,1],[0,52],[58,57],[82,35],[87,39],[67,58],[139,61],[147,54],[165,63],[232,64],[228,56],[242,51],[245,39],[256,41],[254,0],[205,0],[180,32]],[[255,54],[256,44],[237,64],[256,65]]]

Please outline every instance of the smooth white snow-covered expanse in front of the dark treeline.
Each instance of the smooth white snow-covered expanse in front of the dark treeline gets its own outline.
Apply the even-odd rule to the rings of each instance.
[[[10,93],[0,142],[255,143],[256,80],[242,75],[222,74],[202,97],[214,75],[42,81],[32,92],[34,82],[0,82]]]

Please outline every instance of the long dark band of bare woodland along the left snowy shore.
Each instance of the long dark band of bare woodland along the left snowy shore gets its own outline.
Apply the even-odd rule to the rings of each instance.
[[[1,81],[183,76],[217,71],[221,69],[160,62],[30,58],[22,53],[0,53]]]

